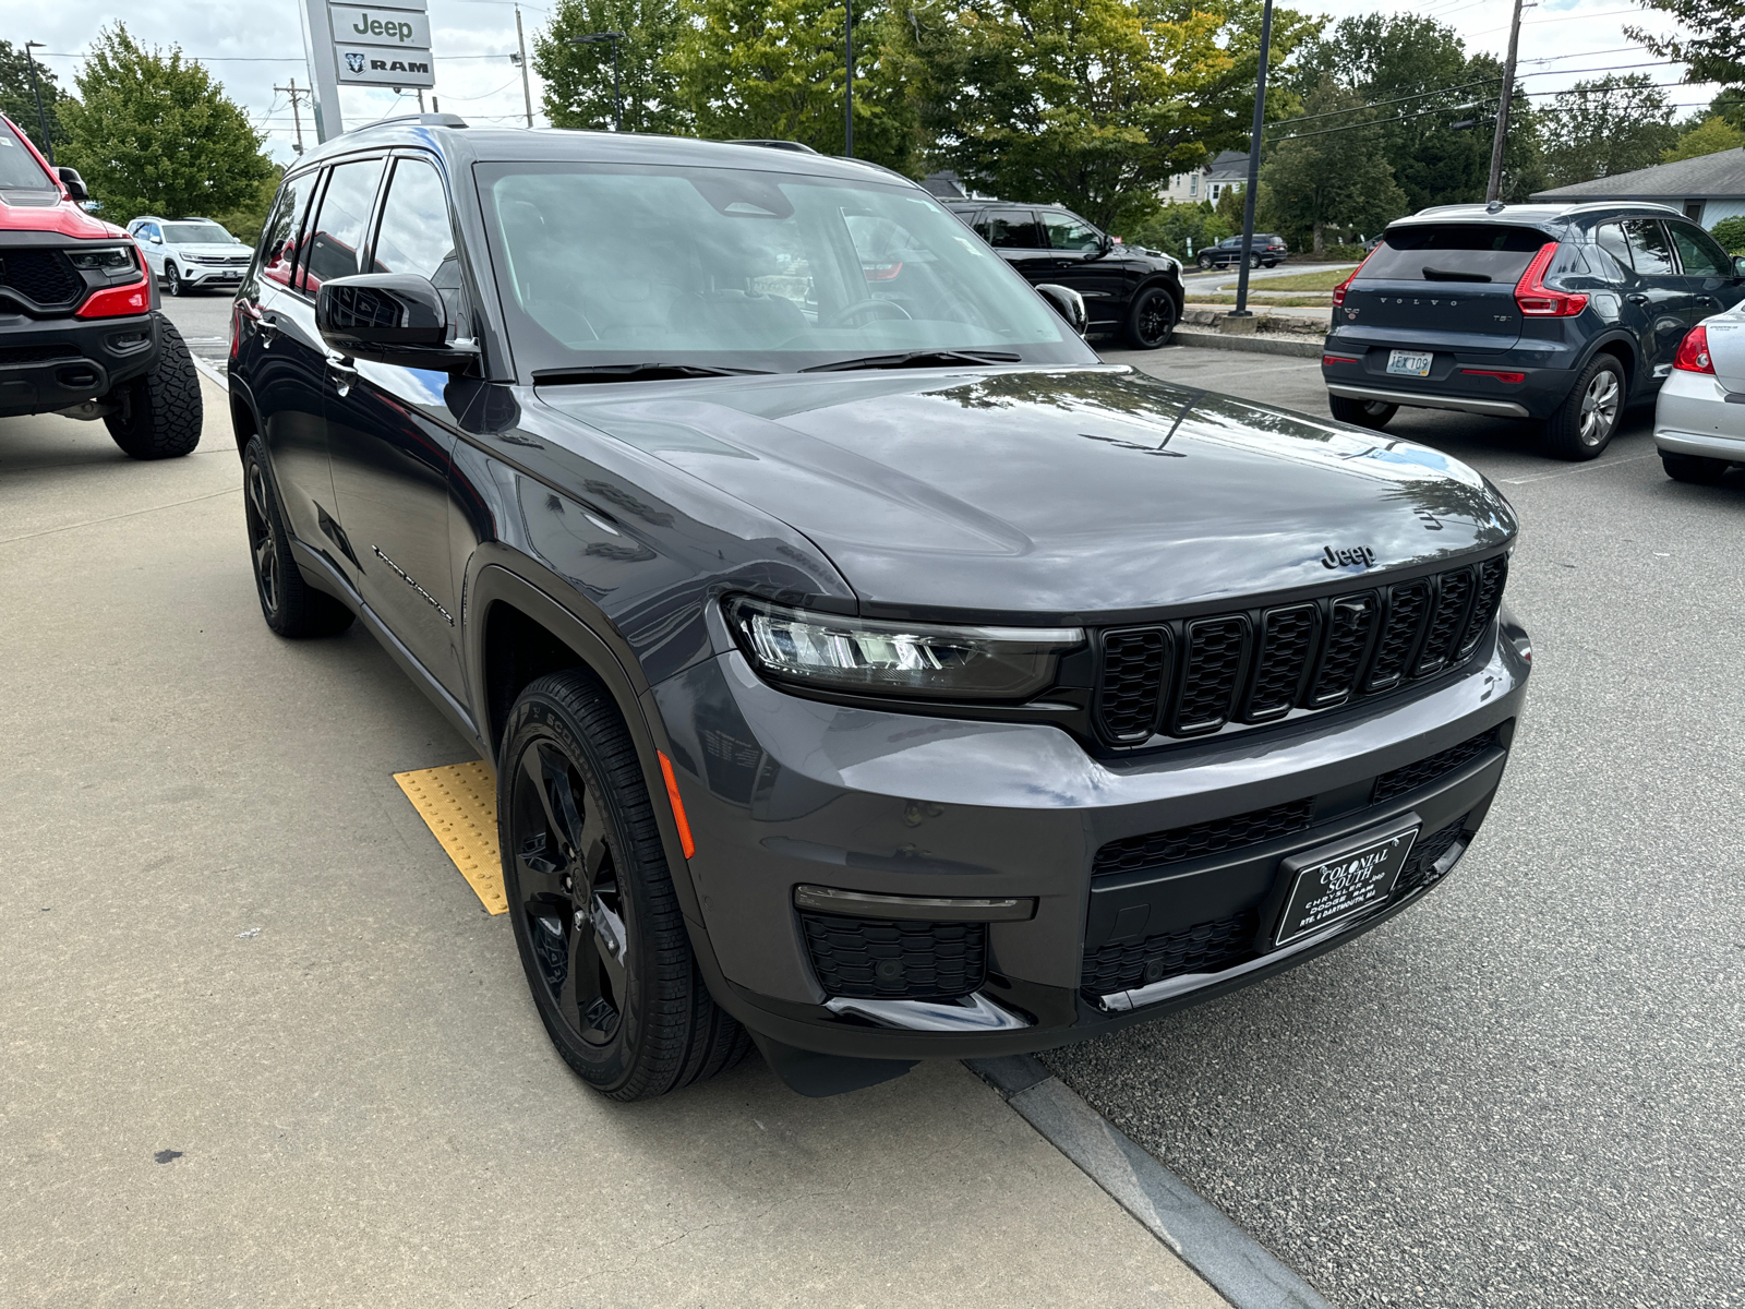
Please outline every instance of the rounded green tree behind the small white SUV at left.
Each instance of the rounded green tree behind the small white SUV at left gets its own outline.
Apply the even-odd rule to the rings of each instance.
[[[272,176],[262,134],[178,45],[147,51],[117,23],[98,33],[73,80],[82,103],[61,110],[63,154],[110,222],[225,213]]]

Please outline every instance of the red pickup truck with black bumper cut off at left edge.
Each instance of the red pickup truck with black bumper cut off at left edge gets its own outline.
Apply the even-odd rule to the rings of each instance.
[[[201,442],[194,360],[133,239],[84,199],[80,176],[51,171],[0,115],[0,417],[103,419],[134,459],[187,454]]]

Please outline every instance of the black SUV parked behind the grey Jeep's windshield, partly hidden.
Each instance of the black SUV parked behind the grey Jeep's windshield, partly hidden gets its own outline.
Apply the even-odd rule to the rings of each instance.
[[[1091,332],[1119,333],[1134,349],[1167,346],[1181,321],[1181,265],[1169,255],[1124,246],[1057,204],[946,201],[1000,258],[1033,286],[1084,297]]]

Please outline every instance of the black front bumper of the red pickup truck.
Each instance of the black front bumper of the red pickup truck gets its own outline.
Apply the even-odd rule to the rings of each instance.
[[[0,417],[52,414],[99,400],[157,363],[154,314],[0,314]]]

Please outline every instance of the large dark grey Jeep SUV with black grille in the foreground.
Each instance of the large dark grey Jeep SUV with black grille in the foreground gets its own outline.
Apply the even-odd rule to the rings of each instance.
[[[1153,1018],[1417,902],[1502,777],[1483,478],[1101,363],[886,171],[379,124],[234,326],[262,613],[356,616],[492,761],[607,1094]]]

